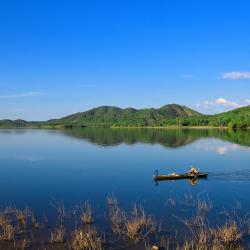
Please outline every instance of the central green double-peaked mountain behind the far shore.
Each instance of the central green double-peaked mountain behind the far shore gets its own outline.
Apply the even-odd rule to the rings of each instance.
[[[108,126],[154,126],[162,124],[164,120],[178,117],[198,116],[200,113],[177,104],[168,104],[159,109],[134,109],[101,106],[86,112],[76,113],[57,120],[50,120],[50,124],[84,124]]]

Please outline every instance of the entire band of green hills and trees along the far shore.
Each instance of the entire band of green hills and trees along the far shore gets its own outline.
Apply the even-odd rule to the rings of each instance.
[[[216,115],[202,115],[195,110],[177,104],[165,105],[159,109],[121,109],[102,106],[76,113],[61,119],[45,122],[24,120],[1,120],[2,127],[228,127],[244,129],[250,127],[250,106]]]

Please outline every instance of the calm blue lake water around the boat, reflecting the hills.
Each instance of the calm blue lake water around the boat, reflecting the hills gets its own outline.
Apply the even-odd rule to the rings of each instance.
[[[208,172],[208,178],[193,183],[152,179],[155,170],[183,173],[191,165]],[[96,228],[108,230],[111,194],[124,210],[134,202],[143,206],[170,239],[175,230],[189,231],[182,219],[195,213],[198,200],[212,204],[211,225],[226,222],[226,214],[243,218],[250,212],[250,130],[2,129],[0,166],[1,206],[28,206],[38,221],[46,214],[52,223],[47,231],[55,223],[55,204],[73,211],[85,201]],[[248,246],[249,237],[242,242]],[[133,247],[143,249],[124,242],[106,245]]]

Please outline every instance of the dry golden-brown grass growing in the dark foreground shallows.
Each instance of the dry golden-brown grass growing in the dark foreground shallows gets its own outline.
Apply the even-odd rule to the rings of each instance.
[[[30,209],[4,206],[0,210],[0,248],[249,249],[249,213],[244,214],[241,207],[216,211],[217,204],[214,206],[209,197],[190,193],[180,197],[171,194],[162,204],[173,214],[159,220],[138,202],[123,208],[117,198],[108,196],[104,213],[95,214],[98,222],[91,225],[81,223],[81,205],[62,217],[66,212],[62,204],[63,210],[57,210],[49,221],[39,218],[40,227],[33,226]],[[176,216],[180,211],[181,217]]]

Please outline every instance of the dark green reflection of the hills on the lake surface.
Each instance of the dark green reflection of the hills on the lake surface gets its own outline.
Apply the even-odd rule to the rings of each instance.
[[[244,146],[250,146],[250,131],[230,131],[219,129],[111,129],[83,128],[67,129],[66,135],[86,139],[102,146],[121,143],[150,143],[176,148],[194,142],[200,138],[218,138]]]

